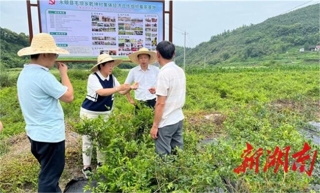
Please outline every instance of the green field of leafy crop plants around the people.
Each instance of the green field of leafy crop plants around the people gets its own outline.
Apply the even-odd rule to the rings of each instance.
[[[58,71],[51,72],[59,79]],[[29,152],[14,149],[25,136],[24,121],[16,99],[15,80],[19,69],[5,72],[1,88],[1,192],[37,190],[39,165]],[[311,177],[292,171],[292,154],[302,150],[304,142],[312,152],[320,148],[298,132],[308,121],[319,121],[319,65],[279,65],[269,67],[211,67],[186,69],[186,100],[183,108],[184,150],[177,156],[159,158],[149,137],[153,112],[142,109],[136,116],[125,96],[116,94],[114,116],[107,123],[97,119],[82,122],[79,108],[86,95],[88,70],[68,71],[74,88],[74,101],[62,103],[66,133],[77,134],[75,145],[66,143],[66,165],[60,180],[63,186],[81,173],[81,140],[87,134],[98,142],[106,157],[105,165],[94,171],[98,181],[94,192],[217,192],[227,191],[225,181],[234,182],[237,192],[308,192],[317,184],[319,169]],[[115,69],[123,83],[127,70]],[[134,137],[144,127],[143,138]],[[242,164],[241,154],[249,143],[253,152],[259,148],[258,172],[236,174]],[[263,172],[267,151],[290,147],[288,171],[280,165]],[[12,154],[12,151],[17,151]],[[284,150],[282,150],[284,152]],[[253,154],[252,152],[252,154]],[[94,155],[94,154],[93,154]],[[310,154],[311,156],[313,154]],[[94,157],[94,156],[93,156]],[[95,158],[93,158],[95,159]],[[284,157],[282,157],[284,160]],[[319,165],[317,154],[314,166]],[[308,170],[310,163],[306,162]],[[100,178],[104,176],[104,178]],[[107,180],[105,180],[107,179]],[[231,186],[232,187],[232,186]],[[90,189],[86,186],[86,189]]]

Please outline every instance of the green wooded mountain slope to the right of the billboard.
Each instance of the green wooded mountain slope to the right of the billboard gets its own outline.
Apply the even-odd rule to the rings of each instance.
[[[286,52],[293,46],[319,45],[319,4],[281,14],[258,24],[243,25],[211,36],[186,52],[186,64],[223,64]],[[183,53],[175,61],[183,63]]]

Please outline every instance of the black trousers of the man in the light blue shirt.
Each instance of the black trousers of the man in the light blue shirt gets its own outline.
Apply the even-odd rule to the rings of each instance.
[[[59,179],[64,168],[64,140],[57,143],[46,143],[33,141],[29,138],[29,141],[31,153],[41,166],[38,192],[60,193]]]

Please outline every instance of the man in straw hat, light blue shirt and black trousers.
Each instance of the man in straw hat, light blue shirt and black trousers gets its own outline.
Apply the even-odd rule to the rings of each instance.
[[[58,54],[68,54],[56,46],[47,33],[33,36],[31,45],[20,49],[18,56],[30,55],[17,80],[17,95],[31,153],[41,165],[38,192],[61,192],[58,182],[65,160],[64,115],[59,100],[73,101],[73,88],[67,66],[57,63],[61,83],[49,72]]]

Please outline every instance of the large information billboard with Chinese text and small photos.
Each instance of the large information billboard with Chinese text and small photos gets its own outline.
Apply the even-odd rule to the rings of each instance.
[[[163,1],[39,1],[41,30],[70,52],[67,57],[121,58],[141,47],[155,50],[164,36],[163,9]]]

